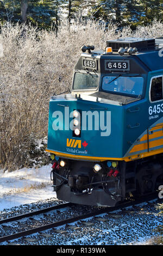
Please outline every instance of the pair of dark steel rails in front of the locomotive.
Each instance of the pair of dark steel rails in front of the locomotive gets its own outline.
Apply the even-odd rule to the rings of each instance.
[[[96,215],[108,213],[108,212],[119,210],[119,209],[124,209],[124,208],[127,208],[128,206],[133,206],[133,205],[136,205],[136,204],[148,202],[148,201],[153,200],[155,198],[156,198],[155,196],[152,196],[152,197],[148,198],[148,200],[145,200],[145,199],[143,199],[143,200],[142,199],[133,200],[133,201],[130,201],[130,202],[127,202],[127,203],[120,204],[116,207],[102,208],[102,209],[99,209],[99,210],[96,210],[96,211],[89,212],[87,214],[82,214],[82,215],[79,215],[79,216],[66,218],[65,220],[62,220],[62,221],[56,221],[56,222],[52,222],[52,223],[49,223],[49,224],[45,224],[45,225],[42,225],[41,227],[36,227],[36,228],[21,231],[19,233],[2,236],[2,237],[0,237],[0,243],[5,242],[5,241],[18,239],[20,237],[32,235],[34,233],[39,233],[41,231],[45,231],[45,230],[48,230],[48,229],[57,228],[61,225],[65,225],[65,224],[73,223],[73,222],[76,222],[76,221],[84,220],[85,218],[93,217],[93,216],[96,216]],[[60,205],[57,205],[57,206],[52,206],[51,208],[46,208],[46,209],[42,209],[42,210],[39,210],[39,211],[30,212],[28,214],[18,215],[18,216],[15,216],[15,217],[11,217],[11,218],[8,218],[8,219],[1,220],[0,224],[8,223],[8,222],[11,222],[11,221],[22,220],[22,218],[25,218],[25,217],[31,217],[31,216],[34,216],[34,215],[39,215],[39,214],[42,214],[44,212],[48,212],[48,211],[56,210],[56,209],[62,209],[62,208],[65,208],[67,206],[72,206],[72,205],[74,205],[74,204],[65,203],[65,204],[60,204]]]

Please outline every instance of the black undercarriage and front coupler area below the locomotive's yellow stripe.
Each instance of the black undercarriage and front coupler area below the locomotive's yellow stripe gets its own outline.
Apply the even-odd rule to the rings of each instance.
[[[126,199],[153,194],[163,184],[162,155],[131,162],[91,162],[62,159],[53,162],[51,179],[57,198],[67,202],[115,206]],[[111,166],[109,167],[108,165]],[[93,168],[99,164],[101,169]]]

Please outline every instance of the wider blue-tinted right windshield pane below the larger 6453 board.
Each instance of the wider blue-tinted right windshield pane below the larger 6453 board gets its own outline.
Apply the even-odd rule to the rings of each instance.
[[[143,77],[105,76],[102,89],[108,92],[139,96],[143,90]]]

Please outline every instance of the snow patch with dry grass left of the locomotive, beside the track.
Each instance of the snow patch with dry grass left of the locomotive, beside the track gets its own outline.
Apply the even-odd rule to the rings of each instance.
[[[51,181],[52,164],[41,168],[0,170],[0,211],[39,200],[55,198]]]

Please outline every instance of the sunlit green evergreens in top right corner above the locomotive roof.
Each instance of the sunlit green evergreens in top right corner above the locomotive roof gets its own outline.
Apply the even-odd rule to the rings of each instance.
[[[98,0],[96,19],[118,22],[120,26],[147,25],[155,18],[163,21],[163,0]],[[97,10],[97,11],[96,11]]]

